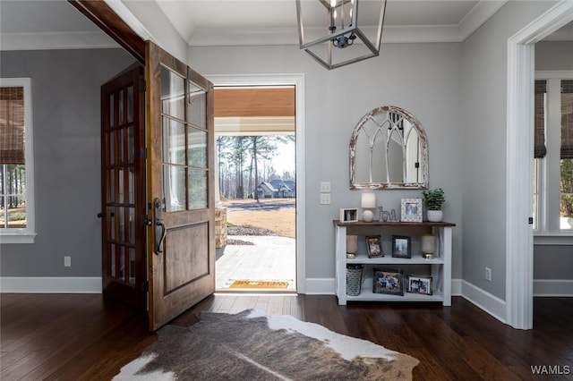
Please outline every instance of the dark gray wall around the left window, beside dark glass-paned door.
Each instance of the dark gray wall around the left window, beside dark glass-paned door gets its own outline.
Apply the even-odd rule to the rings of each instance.
[[[133,63],[122,49],[13,51],[0,75],[30,77],[36,231],[2,244],[2,276],[101,275],[100,86]],[[72,267],[64,267],[64,256]]]

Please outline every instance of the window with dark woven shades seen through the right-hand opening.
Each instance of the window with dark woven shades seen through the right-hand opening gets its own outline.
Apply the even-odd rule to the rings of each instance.
[[[536,233],[573,233],[573,73],[568,74],[545,73],[546,79],[535,80]]]

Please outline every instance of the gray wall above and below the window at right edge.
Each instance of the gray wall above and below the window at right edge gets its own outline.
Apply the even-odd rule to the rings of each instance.
[[[573,41],[535,44],[535,70],[573,71]],[[535,279],[573,279],[573,243],[568,246],[535,245]]]

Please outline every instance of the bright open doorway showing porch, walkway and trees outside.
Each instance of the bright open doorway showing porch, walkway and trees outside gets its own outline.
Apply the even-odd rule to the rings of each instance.
[[[296,291],[295,86],[215,89],[218,292]]]

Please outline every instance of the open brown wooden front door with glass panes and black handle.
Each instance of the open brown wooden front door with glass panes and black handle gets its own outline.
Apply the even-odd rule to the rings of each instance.
[[[150,330],[215,292],[213,86],[146,46]]]

